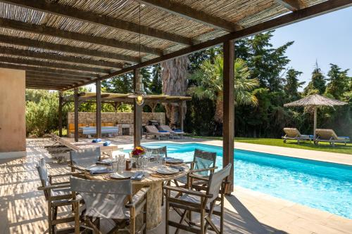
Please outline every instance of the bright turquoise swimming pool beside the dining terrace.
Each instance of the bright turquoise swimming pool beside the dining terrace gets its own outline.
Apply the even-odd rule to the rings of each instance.
[[[193,160],[194,149],[216,152],[222,147],[200,143],[145,143],[168,146],[168,156]],[[352,219],[352,166],[303,160],[262,152],[234,152],[234,184]]]

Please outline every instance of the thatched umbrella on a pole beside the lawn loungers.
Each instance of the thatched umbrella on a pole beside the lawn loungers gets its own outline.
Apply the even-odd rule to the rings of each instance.
[[[315,129],[317,128],[317,109],[320,106],[331,106],[334,105],[346,105],[341,100],[334,100],[331,98],[325,98],[324,96],[320,96],[319,94],[313,94],[306,98],[302,98],[300,100],[295,100],[292,103],[284,104],[284,107],[292,107],[292,106],[311,106],[314,108],[314,140],[315,140]]]

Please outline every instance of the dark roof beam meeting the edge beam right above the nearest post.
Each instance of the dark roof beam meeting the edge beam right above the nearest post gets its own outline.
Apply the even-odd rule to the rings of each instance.
[[[219,30],[234,32],[242,29],[241,26],[235,24],[234,22],[230,22],[222,18],[209,15],[207,13],[204,13],[203,11],[197,11],[194,8],[191,8],[184,4],[179,4],[175,1],[170,1],[170,0],[134,0],[134,1],[137,1],[140,4],[146,4],[147,6],[152,6],[152,7],[161,9],[162,11],[167,11],[168,13],[172,13],[174,15],[179,15],[189,20],[200,22],[203,25],[215,27]]]

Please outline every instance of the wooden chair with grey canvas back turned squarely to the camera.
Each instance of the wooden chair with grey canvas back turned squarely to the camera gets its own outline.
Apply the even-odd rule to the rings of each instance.
[[[108,233],[125,228],[130,225],[130,234],[146,234],[146,202],[149,187],[143,187],[132,194],[132,181],[92,181],[83,178],[70,177],[71,190],[79,193],[75,205],[75,233],[80,233],[80,228],[88,228],[94,233],[99,230],[100,219],[112,219],[115,227]],[[84,200],[84,216],[80,219],[79,202]],[[126,202],[127,201],[127,202]],[[143,215],[143,224],[137,230],[136,217]]]

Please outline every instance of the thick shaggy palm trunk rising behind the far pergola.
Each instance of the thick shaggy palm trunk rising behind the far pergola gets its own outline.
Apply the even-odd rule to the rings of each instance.
[[[180,57],[172,60],[167,60],[161,63],[163,70],[161,78],[163,79],[163,94],[170,96],[186,96],[187,92],[187,67],[188,57]],[[179,104],[163,103],[166,110],[170,126],[180,124],[179,119]],[[187,105],[184,105],[182,118],[184,119],[187,111]]]

